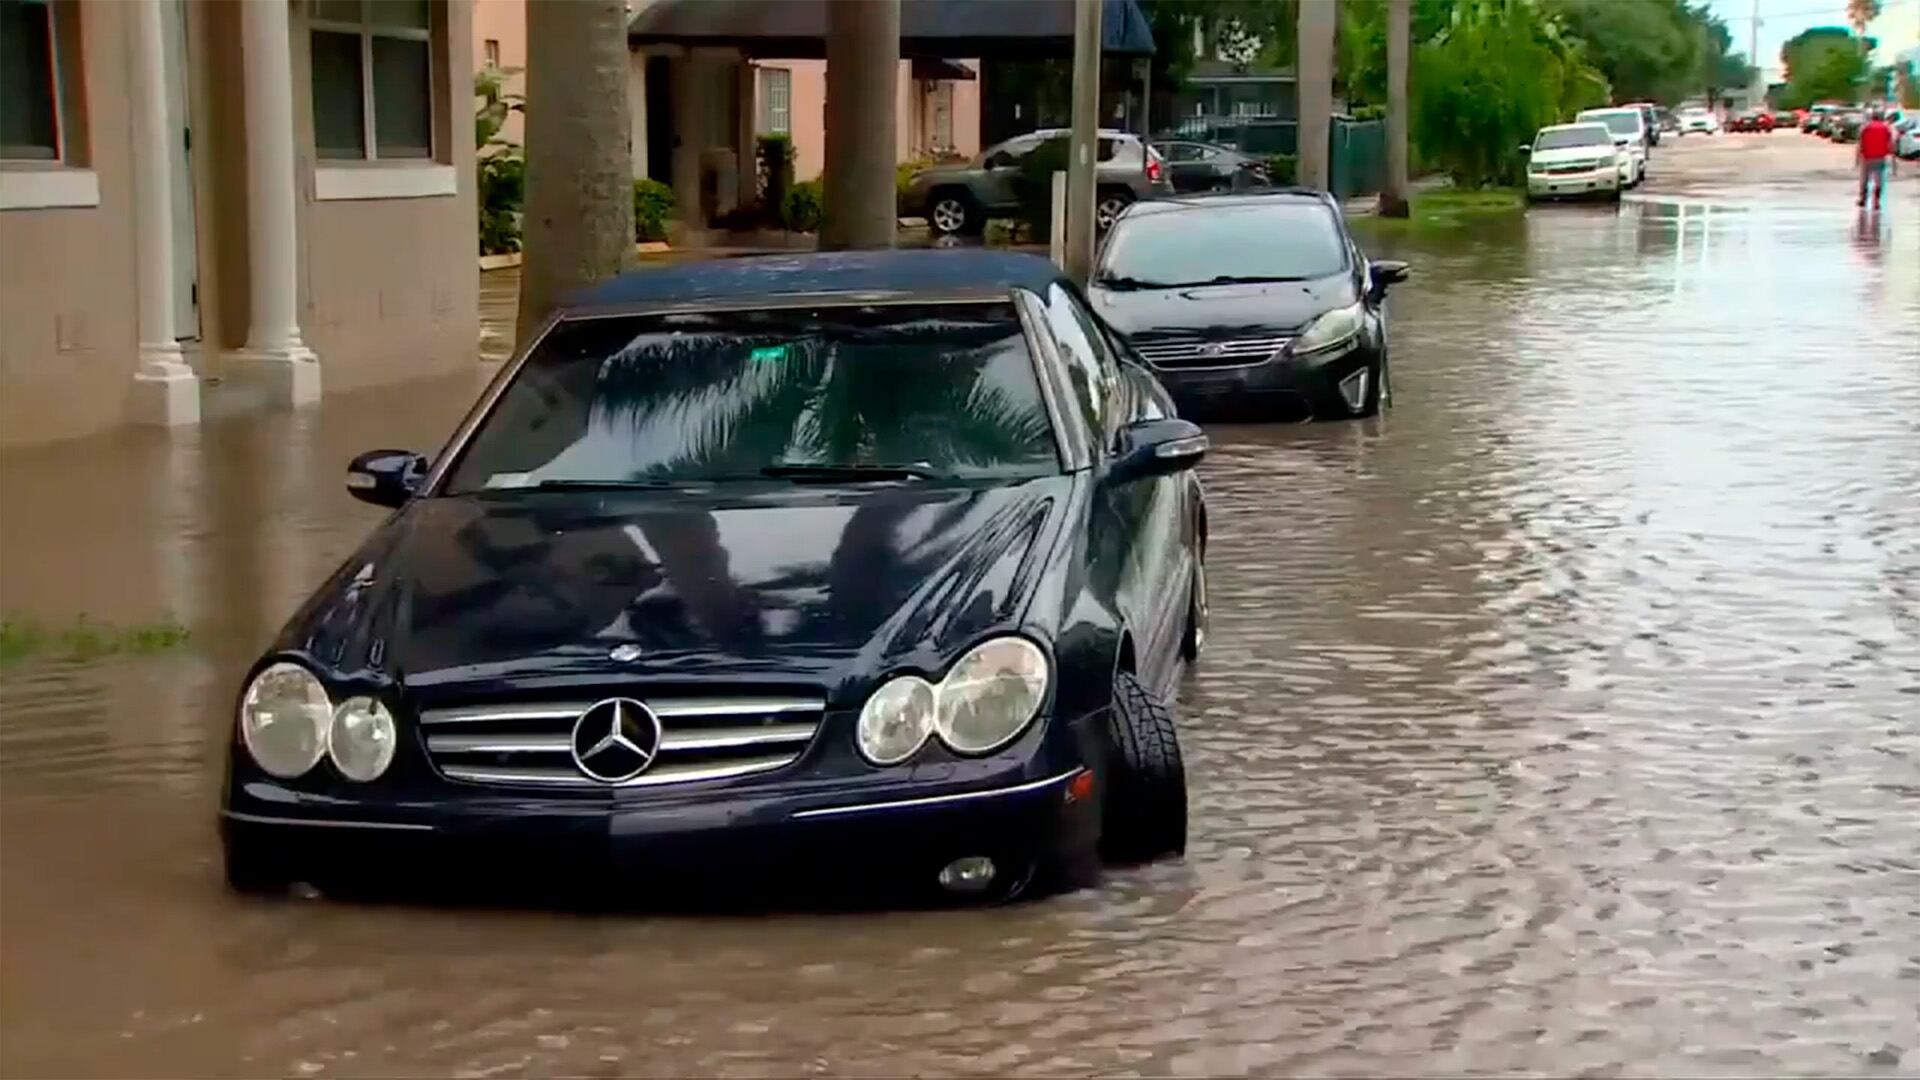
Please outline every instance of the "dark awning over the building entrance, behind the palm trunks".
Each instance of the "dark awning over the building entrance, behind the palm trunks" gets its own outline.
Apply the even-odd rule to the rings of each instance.
[[[628,46],[726,46],[749,58],[826,60],[835,0],[657,0],[628,23]],[[1108,56],[1152,56],[1135,0],[1102,0]],[[900,0],[900,56],[1041,60],[1073,56],[1073,0]]]

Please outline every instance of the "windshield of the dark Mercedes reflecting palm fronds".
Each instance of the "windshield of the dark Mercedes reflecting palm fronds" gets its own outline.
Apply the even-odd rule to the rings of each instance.
[[[764,480],[816,465],[1058,473],[1012,304],[563,321],[444,490]]]

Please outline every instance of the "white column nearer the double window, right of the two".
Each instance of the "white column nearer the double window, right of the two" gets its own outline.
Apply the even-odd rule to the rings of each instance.
[[[246,96],[248,300],[246,348],[234,373],[267,386],[273,404],[321,396],[321,363],[300,340],[294,192],[294,56],[288,0],[240,4]]]

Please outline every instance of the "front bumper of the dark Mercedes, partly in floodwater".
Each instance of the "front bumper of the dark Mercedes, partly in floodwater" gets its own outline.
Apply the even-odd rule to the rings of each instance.
[[[221,834],[228,857],[269,857],[290,880],[378,888],[578,886],[632,903],[762,884],[925,890],[960,857],[993,859],[1004,880],[1087,859],[1100,826],[1098,798],[1075,782],[1083,773],[1037,753],[924,765],[899,778],[687,784],[637,798],[457,786],[378,801],[253,776],[228,786]]]

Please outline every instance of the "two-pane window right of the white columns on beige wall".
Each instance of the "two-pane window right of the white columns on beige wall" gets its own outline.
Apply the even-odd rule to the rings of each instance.
[[[432,8],[313,0],[313,144],[323,160],[434,156]]]

